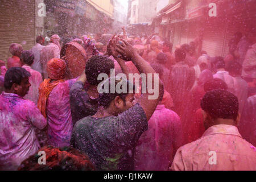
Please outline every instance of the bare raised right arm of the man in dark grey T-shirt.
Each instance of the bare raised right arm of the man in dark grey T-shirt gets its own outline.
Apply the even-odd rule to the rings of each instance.
[[[156,106],[159,102],[159,96],[163,95],[163,84],[160,81],[159,77],[157,76],[155,79],[155,71],[154,69],[141,57],[138,55],[137,51],[129,44],[126,40],[123,40],[122,46],[117,44],[117,51],[121,53],[123,58],[126,61],[133,61],[134,65],[137,67],[139,73],[144,73],[146,76],[152,76],[152,85],[158,86],[159,89],[155,90],[158,93],[158,97],[156,99],[150,99],[150,96],[154,96],[155,93],[142,93],[142,96],[139,98],[138,103],[143,108],[144,112],[146,113],[147,121],[150,119],[151,115],[154,113]],[[152,88],[151,85],[151,88]],[[148,84],[147,84],[148,90]]]

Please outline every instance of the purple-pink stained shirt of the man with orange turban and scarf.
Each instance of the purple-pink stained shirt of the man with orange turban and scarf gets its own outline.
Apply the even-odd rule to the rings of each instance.
[[[69,146],[73,129],[69,89],[76,80],[61,82],[53,88],[47,100],[48,139],[54,147]]]

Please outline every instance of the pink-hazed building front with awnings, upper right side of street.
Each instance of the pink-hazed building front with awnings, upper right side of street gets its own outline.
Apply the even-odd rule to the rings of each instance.
[[[163,0],[164,1],[164,0]],[[160,2],[160,1],[159,1]],[[165,7],[158,5],[158,14],[152,28],[168,38],[174,46],[200,38],[201,49],[210,56],[225,56],[228,42],[235,32],[243,35],[255,27],[255,1],[251,0],[184,0],[168,1]],[[210,16],[216,5],[216,16]]]

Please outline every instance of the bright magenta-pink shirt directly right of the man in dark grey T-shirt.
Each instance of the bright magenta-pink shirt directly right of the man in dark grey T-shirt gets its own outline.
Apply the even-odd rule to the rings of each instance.
[[[179,116],[158,105],[135,150],[135,171],[166,171],[182,145]]]

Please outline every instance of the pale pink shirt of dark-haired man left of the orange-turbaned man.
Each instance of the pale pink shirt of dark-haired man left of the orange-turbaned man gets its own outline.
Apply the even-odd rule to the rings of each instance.
[[[31,74],[31,76],[28,78],[28,81],[31,84],[30,90],[28,91],[28,94],[26,94],[26,96],[24,96],[24,99],[30,100],[37,105],[38,98],[39,98],[38,88],[39,88],[41,82],[43,82],[42,75],[41,75],[41,73],[39,73],[38,71],[35,71],[34,69],[32,69],[31,67],[29,67],[27,65],[23,65],[22,68],[26,69]]]

